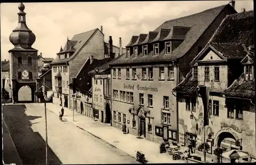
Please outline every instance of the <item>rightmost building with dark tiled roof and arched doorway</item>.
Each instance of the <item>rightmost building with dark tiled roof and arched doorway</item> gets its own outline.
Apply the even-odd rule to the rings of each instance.
[[[210,122],[205,128],[206,143],[210,146],[207,153],[212,155],[215,148],[222,147],[244,150],[255,158],[252,25],[253,11],[226,16],[191,63],[193,68],[186,78],[174,88],[181,144],[197,149],[203,143],[203,102],[197,95],[197,87],[203,85],[210,89]]]

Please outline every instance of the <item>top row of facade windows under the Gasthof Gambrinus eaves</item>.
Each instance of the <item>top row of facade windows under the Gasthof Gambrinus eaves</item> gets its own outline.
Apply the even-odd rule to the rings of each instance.
[[[121,79],[121,68],[113,68],[113,79]],[[165,69],[164,66],[159,67],[159,80],[165,80]],[[143,67],[141,68],[141,79],[142,80],[153,80],[153,67]],[[132,80],[137,80],[137,68],[132,68]],[[130,80],[130,68],[126,68],[126,80]],[[174,66],[167,67],[167,80],[174,80]]]

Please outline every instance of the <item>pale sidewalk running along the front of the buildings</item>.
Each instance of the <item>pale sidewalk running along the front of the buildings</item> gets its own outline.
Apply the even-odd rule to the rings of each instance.
[[[35,103],[44,107],[44,103]],[[47,103],[47,109],[58,114],[61,107],[52,103]],[[74,112],[65,108],[63,119],[74,123],[80,129],[104,140],[111,146],[118,148],[132,157],[136,157],[135,151],[141,151],[145,154],[148,163],[184,163],[182,160],[173,160],[167,153],[160,154],[159,144],[146,139],[138,139],[132,134],[123,134],[121,130],[110,127],[104,123],[94,121],[88,116]],[[56,116],[57,117],[57,116]]]

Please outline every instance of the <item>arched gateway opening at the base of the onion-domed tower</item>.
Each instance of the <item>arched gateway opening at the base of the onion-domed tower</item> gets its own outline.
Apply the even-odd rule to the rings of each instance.
[[[18,102],[19,103],[27,103],[32,102],[34,100],[34,95],[32,88],[28,85],[24,85],[18,89]]]

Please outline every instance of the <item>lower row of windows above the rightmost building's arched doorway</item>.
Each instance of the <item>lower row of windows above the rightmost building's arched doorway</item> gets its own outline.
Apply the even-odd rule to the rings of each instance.
[[[179,99],[179,102],[182,102]],[[186,110],[196,112],[197,98],[185,97]],[[218,100],[209,100],[209,115],[219,116],[220,103]],[[236,116],[234,116],[236,114]],[[239,103],[230,102],[227,104],[227,118],[243,120],[243,106]]]

